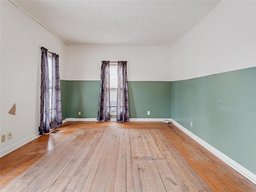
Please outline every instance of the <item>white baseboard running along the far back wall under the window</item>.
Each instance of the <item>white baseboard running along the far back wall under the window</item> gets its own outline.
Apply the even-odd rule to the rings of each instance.
[[[164,120],[171,120],[170,118],[130,118],[131,122],[162,122]],[[97,121],[97,118],[66,118],[62,123],[68,121]],[[110,118],[110,121],[116,122],[116,118]]]

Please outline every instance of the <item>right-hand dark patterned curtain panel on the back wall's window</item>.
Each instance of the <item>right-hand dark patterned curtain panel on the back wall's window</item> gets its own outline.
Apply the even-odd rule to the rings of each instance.
[[[117,121],[130,121],[126,61],[118,61]]]

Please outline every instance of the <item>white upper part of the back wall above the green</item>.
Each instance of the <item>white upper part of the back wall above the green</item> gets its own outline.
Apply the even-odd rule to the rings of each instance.
[[[68,46],[68,80],[100,80],[102,60],[127,61],[128,81],[169,81],[170,47]]]

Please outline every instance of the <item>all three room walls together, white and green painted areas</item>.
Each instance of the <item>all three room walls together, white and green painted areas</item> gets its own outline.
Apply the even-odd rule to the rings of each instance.
[[[1,156],[38,135],[44,46],[60,55],[63,118],[96,118],[101,61],[126,60],[131,118],[172,118],[256,181],[255,10],[255,1],[222,1],[172,47],[66,46],[1,1],[0,126],[12,132]]]

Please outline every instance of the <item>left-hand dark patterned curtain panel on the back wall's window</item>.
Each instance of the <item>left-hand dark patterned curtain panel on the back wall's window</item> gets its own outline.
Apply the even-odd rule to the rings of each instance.
[[[98,121],[110,120],[109,97],[109,61],[102,61],[100,71],[100,97],[97,116]]]

